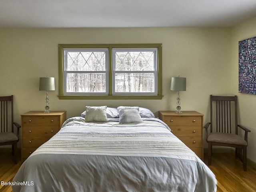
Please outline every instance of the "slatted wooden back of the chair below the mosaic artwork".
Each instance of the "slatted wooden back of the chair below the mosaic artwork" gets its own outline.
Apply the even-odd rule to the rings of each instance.
[[[237,96],[210,96],[211,129],[210,132],[237,134]]]

